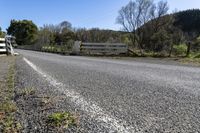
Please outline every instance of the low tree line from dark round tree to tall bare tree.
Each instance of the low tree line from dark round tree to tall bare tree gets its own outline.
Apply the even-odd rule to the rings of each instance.
[[[30,20],[11,20],[7,33],[16,37],[18,45],[71,45],[75,40],[83,42],[125,42],[125,32],[99,28],[73,28],[68,21],[45,24],[38,28]]]

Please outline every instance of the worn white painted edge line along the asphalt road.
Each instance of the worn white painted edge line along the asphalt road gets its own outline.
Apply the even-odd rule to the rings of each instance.
[[[66,87],[65,84],[57,81],[50,75],[43,72],[39,67],[34,65],[32,62],[30,62],[28,59],[23,58],[24,61],[32,67],[38,74],[40,74],[43,78],[45,78],[52,86],[57,88],[58,90],[65,93],[67,97],[71,99],[71,102],[73,102],[76,106],[78,106],[81,110],[87,112],[92,118],[97,120],[98,122],[103,122],[103,126],[110,129],[110,132],[119,132],[119,133],[134,133],[135,128],[132,126],[129,126],[125,121],[119,120],[115,118],[112,115],[106,114],[105,111],[95,103],[92,103],[90,101],[86,101],[84,97],[82,97],[79,93],[67,89],[69,87]]]

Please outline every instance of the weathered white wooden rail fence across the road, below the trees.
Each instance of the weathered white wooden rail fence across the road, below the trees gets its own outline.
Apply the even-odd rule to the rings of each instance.
[[[91,55],[119,55],[127,54],[128,46],[122,43],[81,43],[75,42],[74,51],[76,54]]]

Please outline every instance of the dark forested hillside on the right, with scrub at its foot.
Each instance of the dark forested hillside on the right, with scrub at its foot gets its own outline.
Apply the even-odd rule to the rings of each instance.
[[[200,51],[200,10],[192,9],[155,18],[137,30],[144,51],[190,54]]]

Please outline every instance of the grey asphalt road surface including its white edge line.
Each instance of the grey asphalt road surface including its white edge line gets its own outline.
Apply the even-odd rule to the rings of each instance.
[[[90,132],[200,132],[198,67],[17,52],[38,78],[101,125]]]

